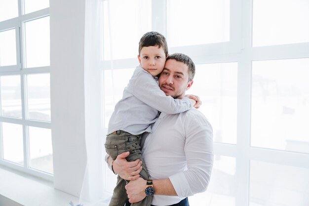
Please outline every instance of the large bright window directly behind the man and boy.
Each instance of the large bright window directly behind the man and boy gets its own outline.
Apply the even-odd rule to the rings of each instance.
[[[160,32],[169,53],[193,59],[188,93],[200,96],[199,110],[214,130],[211,182],[190,204],[309,204],[308,0],[102,2],[105,131],[138,65],[139,39]],[[105,172],[105,189],[112,193],[115,175],[107,167]]]

